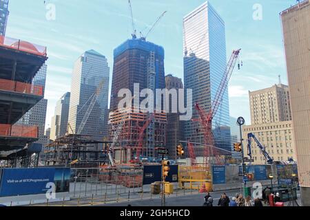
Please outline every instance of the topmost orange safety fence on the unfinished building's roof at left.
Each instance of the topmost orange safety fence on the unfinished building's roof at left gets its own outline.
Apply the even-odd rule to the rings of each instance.
[[[19,39],[12,39],[7,36],[0,36],[0,47],[7,47],[14,50],[28,52],[39,56],[46,56],[46,47],[36,45],[28,41],[21,41]]]

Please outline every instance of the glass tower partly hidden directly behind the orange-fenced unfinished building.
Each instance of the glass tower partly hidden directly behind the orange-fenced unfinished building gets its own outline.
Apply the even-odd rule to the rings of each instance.
[[[32,80],[32,85],[43,88],[43,96],[45,93],[45,81],[46,81],[47,65],[42,65],[41,69],[37,72]],[[48,100],[42,99],[32,109],[23,115],[23,117],[17,122],[17,124],[23,124],[27,126],[39,126],[39,140],[38,144],[45,144],[45,118],[46,110],[48,108]]]

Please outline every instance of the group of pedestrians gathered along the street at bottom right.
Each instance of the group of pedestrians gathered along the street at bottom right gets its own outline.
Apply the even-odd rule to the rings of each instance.
[[[256,198],[252,200],[250,195],[244,198],[242,194],[236,193],[236,196],[232,197],[230,200],[226,193],[223,193],[218,200],[218,206],[263,206],[262,201],[265,201],[265,203],[269,203],[267,199],[269,198],[269,195],[272,195],[272,192],[271,189],[268,187],[263,190],[262,199]],[[278,192],[276,196],[273,197],[275,203],[281,201]],[[211,197],[210,193],[207,192],[207,195],[205,196],[205,203],[203,204],[203,206],[213,206],[213,203],[214,199]]]

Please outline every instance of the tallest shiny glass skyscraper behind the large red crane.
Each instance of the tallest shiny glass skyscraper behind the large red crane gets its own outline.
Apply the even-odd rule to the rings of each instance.
[[[183,18],[183,26],[184,83],[185,89],[193,89],[193,118],[196,119],[199,115],[194,104],[198,102],[209,111],[225,72],[225,23],[210,3],[205,2]],[[216,145],[231,151],[228,89],[225,89],[212,127]],[[185,139],[204,143],[204,131],[199,122],[185,122]],[[203,147],[195,148],[196,156],[203,156]]]

